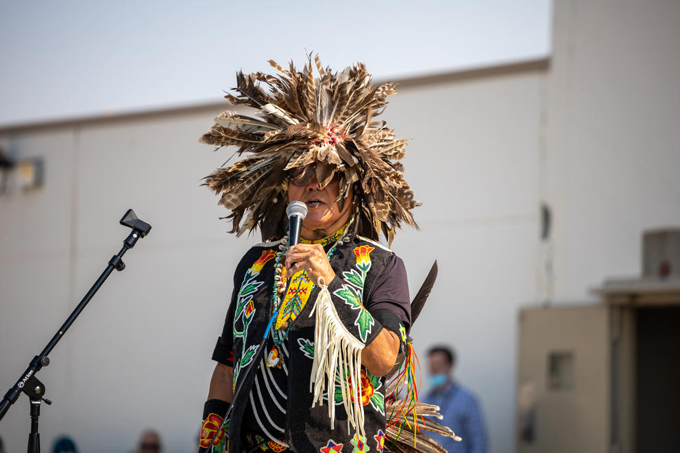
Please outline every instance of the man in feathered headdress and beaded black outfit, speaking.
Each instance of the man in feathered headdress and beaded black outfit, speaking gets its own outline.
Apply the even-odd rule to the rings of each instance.
[[[206,184],[230,209],[232,233],[259,229],[265,242],[236,268],[200,444],[392,450],[385,375],[410,348],[411,305],[404,263],[376,241],[415,227],[417,205],[398,163],[406,140],[373,120],[395,86],[373,88],[363,64],[332,73],[318,57],[302,70],[270,63],[278,76],[238,73],[238,96],[226,96],[261,119],[223,112],[201,138],[247,154]],[[308,214],[302,243],[288,248],[293,200]]]

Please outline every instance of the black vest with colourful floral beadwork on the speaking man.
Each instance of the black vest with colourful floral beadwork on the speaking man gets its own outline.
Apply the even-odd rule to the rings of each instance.
[[[227,322],[233,326],[234,388],[243,387],[233,402],[229,421],[229,449],[234,452],[240,448],[241,439],[237,433],[241,432],[243,411],[253,391],[255,376],[253,373],[246,375],[244,371],[247,367],[258,366],[253,363],[254,357],[273,313],[277,253],[283,246],[284,240],[258,244],[246,253],[236,268],[234,283],[240,287],[234,289],[227,314]],[[361,348],[383,328],[365,309],[364,302],[370,300],[372,287],[385,270],[391,254],[376,242],[348,235],[342,244],[336,245],[329,258],[336,277],[327,283],[328,287],[319,287],[319,282],[304,278],[296,281],[295,276],[291,276],[287,294],[280,300],[276,327],[277,332],[285,336],[282,341],[287,350],[284,440],[295,451],[383,451],[385,378],[373,376],[356,361],[352,365],[349,359],[341,359],[350,355],[348,351],[354,351],[356,356],[358,349],[360,360]],[[319,320],[326,323],[328,316],[339,321],[341,325],[333,332],[344,337],[339,339],[340,346],[324,345],[327,352],[335,350],[335,353],[331,352],[336,359],[339,357],[335,362],[333,357],[317,357],[319,341],[332,343],[338,337],[322,339],[315,329]],[[269,336],[266,347],[274,349],[276,345]],[[268,359],[271,361],[271,354]],[[328,374],[331,363],[339,365]],[[313,374],[317,376],[314,385],[311,384]],[[247,380],[241,382],[244,376]]]

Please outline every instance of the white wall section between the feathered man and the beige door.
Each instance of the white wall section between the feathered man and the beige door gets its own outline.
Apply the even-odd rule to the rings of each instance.
[[[412,294],[439,263],[412,331],[416,350],[426,373],[429,346],[457,349],[456,375],[480,396],[498,453],[513,448],[515,313],[537,297],[543,81],[533,73],[402,90],[389,105],[388,124],[413,138],[404,165],[423,202],[421,231],[393,244]]]

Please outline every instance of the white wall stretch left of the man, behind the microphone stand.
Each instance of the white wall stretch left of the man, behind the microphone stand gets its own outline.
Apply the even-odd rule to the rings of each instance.
[[[45,448],[60,432],[85,452],[123,452],[145,427],[169,452],[191,451],[231,291],[247,241],[199,179],[225,159],[198,144],[216,112],[110,121],[4,137],[45,157],[45,187],[0,197],[0,382],[3,392],[65,320],[129,229],[132,207],[153,229],[127,252],[40,372]],[[8,452],[25,448],[22,396],[0,423]]]

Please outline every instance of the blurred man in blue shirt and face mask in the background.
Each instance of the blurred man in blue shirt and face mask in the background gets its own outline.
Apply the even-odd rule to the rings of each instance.
[[[481,405],[476,396],[461,387],[453,379],[456,365],[455,352],[446,346],[435,346],[428,350],[430,391],[423,402],[436,404],[444,419],[439,423],[448,426],[463,440],[428,432],[428,435],[449,453],[486,453],[487,435]]]

